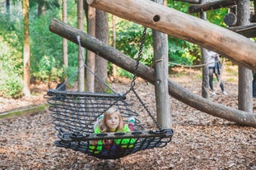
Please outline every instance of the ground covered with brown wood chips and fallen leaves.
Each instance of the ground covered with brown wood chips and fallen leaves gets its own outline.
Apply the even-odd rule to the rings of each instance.
[[[236,69],[236,68],[231,68]],[[170,75],[191,93],[201,94],[200,71],[186,69]],[[223,74],[226,92],[211,100],[237,108],[237,75]],[[216,85],[216,84],[215,84]],[[128,90],[120,79],[114,90]],[[45,85],[35,85],[30,99],[1,99],[2,112],[30,104],[45,103]],[[155,107],[154,87],[140,80],[136,89],[144,102]],[[255,99],[254,99],[255,100]],[[101,160],[54,145],[57,132],[49,111],[0,119],[0,169],[248,169],[256,170],[254,127],[238,126],[170,99],[175,135],[161,149],[147,149],[116,160]],[[254,101],[255,106],[255,101]],[[255,111],[254,111],[255,112]],[[141,120],[143,121],[143,120]]]

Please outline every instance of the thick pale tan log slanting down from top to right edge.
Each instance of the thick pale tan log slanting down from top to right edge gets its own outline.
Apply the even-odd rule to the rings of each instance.
[[[220,53],[256,71],[256,44],[246,37],[195,16],[145,0],[87,0],[92,7],[137,22]],[[236,49],[236,50],[234,50]]]

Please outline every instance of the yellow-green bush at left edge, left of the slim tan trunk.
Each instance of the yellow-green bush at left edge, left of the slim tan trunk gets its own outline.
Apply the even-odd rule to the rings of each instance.
[[[0,37],[0,96],[6,98],[21,98],[22,84],[22,53],[18,44],[18,32],[9,31]]]

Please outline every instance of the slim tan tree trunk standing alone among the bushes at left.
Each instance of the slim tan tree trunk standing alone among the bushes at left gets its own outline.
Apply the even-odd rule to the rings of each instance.
[[[23,37],[23,79],[24,88],[23,92],[26,97],[30,97],[30,2],[29,0],[23,0],[23,26],[24,26],[24,37]]]

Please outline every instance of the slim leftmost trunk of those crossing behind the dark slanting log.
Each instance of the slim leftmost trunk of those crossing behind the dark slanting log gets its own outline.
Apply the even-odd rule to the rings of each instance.
[[[63,0],[63,22],[67,23],[67,0]],[[68,67],[67,39],[63,39],[63,64],[65,69],[67,69]],[[66,77],[64,79],[66,79]]]

